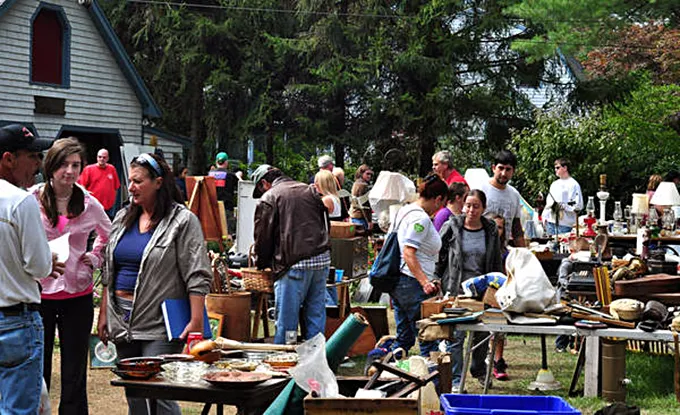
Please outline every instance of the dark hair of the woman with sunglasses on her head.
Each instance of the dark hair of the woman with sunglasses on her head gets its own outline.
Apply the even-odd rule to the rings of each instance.
[[[152,163],[149,163],[149,161],[146,160],[147,157],[151,157],[155,160],[158,166],[153,166]],[[152,179],[155,179],[156,177],[161,177],[163,179],[161,187],[156,191],[156,203],[154,204],[153,214],[151,215],[151,228],[153,229],[158,226],[158,223],[160,223],[164,217],[170,214],[173,209],[173,202],[184,204],[184,200],[179,189],[175,185],[175,175],[172,174],[170,166],[168,166],[165,160],[159,156],[151,153],[137,156],[130,162],[130,169],[133,167],[143,168],[149,173],[149,177]],[[156,167],[160,169],[160,172],[156,170]],[[142,207],[136,205],[134,202],[130,203],[130,208],[123,217],[125,229],[130,229],[141,214]]]

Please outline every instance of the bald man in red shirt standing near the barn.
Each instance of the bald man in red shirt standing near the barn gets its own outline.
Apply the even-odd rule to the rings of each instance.
[[[102,204],[106,214],[113,219],[116,213],[113,204],[116,202],[116,192],[120,188],[120,180],[116,168],[108,164],[109,151],[102,148],[97,152],[97,163],[90,164],[83,169],[78,183]]]

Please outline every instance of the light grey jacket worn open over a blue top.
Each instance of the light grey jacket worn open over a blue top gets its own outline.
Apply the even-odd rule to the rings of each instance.
[[[188,298],[210,291],[212,270],[198,218],[186,207],[174,204],[153,232],[144,249],[135,283],[132,312],[128,322],[116,304],[113,251],[125,233],[118,212],[106,247],[102,282],[109,287],[106,310],[110,338],[123,340],[167,340],[161,304],[167,298]]]

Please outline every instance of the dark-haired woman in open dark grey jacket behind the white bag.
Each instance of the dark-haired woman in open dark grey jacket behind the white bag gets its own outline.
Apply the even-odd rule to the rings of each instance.
[[[470,278],[489,272],[503,272],[500,241],[496,223],[482,216],[486,209],[486,195],[481,190],[471,190],[463,204],[464,215],[451,216],[442,226],[439,235],[442,248],[435,268],[435,276],[442,280],[442,291],[452,296],[461,292],[461,283]],[[475,344],[488,336],[475,332]],[[449,347],[453,369],[453,389],[460,383],[463,370],[463,343],[465,332],[456,331]],[[488,342],[475,349],[472,355],[470,373],[482,385],[486,375],[484,359]]]

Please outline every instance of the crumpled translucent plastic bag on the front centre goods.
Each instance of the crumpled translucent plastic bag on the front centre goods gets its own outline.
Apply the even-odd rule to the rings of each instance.
[[[338,397],[338,380],[328,366],[323,333],[302,343],[295,351],[298,364],[289,371],[295,383],[307,393],[317,392],[321,398]]]

